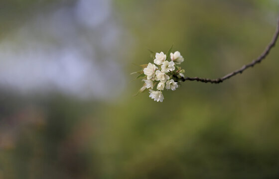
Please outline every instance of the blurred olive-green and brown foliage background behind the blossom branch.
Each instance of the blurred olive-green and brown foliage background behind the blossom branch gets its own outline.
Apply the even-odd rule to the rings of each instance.
[[[73,3],[1,0],[0,38],[31,16]],[[278,2],[112,4],[133,36],[132,47],[119,42],[116,58],[125,90],[102,101],[1,89],[0,179],[278,179],[278,47],[242,75],[218,85],[184,82],[165,91],[162,103],[147,93],[133,97],[142,83],[129,83],[139,70],[132,63],[151,61],[147,49],[166,52],[172,44],[186,76],[219,78],[240,68],[270,42]]]

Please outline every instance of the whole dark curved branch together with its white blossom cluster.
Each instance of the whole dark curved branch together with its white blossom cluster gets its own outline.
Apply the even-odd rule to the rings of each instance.
[[[248,68],[260,64],[262,60],[264,60],[270,54],[271,49],[275,47],[278,38],[279,38],[279,19],[277,22],[276,32],[272,38],[272,41],[268,44],[265,51],[257,59],[253,60],[249,64],[243,65],[240,69],[233,71],[232,73],[229,73],[224,77],[218,79],[208,79],[208,78],[198,78],[198,77],[185,78],[183,75],[185,71],[181,69],[181,67],[177,66],[184,61],[184,58],[180,55],[180,52],[178,51],[176,51],[175,53],[171,53],[172,47],[168,50],[167,55],[165,55],[163,52],[155,54],[154,52],[150,51],[152,57],[153,57],[152,54],[154,54],[153,57],[154,64],[148,63],[145,65],[140,65],[143,69],[139,72],[135,72],[140,74],[137,77],[137,79],[141,77],[144,78],[142,80],[144,82],[144,85],[141,89],[139,89],[139,92],[143,92],[144,90],[149,89],[149,93],[150,93],[149,97],[151,97],[157,102],[158,101],[162,102],[164,99],[162,90],[164,89],[175,90],[176,88],[178,88],[181,82],[184,82],[186,80],[197,81],[202,83],[211,83],[211,84],[222,83],[223,81],[228,80],[236,76],[237,74],[242,74]],[[168,61],[169,57],[171,59],[170,62]],[[155,86],[157,90],[153,90]]]

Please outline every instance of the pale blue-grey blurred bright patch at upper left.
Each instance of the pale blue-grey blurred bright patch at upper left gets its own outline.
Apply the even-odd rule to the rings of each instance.
[[[0,41],[0,88],[117,97],[127,85],[117,47],[128,38],[119,23],[111,0],[34,14]]]

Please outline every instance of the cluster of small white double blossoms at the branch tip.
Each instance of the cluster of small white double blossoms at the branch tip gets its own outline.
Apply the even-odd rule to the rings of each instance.
[[[170,61],[168,58],[170,57]],[[139,77],[143,77],[143,86],[139,89],[139,92],[149,90],[149,97],[154,101],[162,102],[164,96],[162,90],[171,89],[175,90],[181,82],[181,78],[184,78],[185,72],[180,65],[184,61],[184,58],[180,55],[180,52],[176,51],[167,55],[163,52],[156,53],[153,57],[153,62],[147,65],[141,65],[143,69],[139,73]],[[138,78],[139,78],[138,77]],[[153,90],[155,88],[155,90]]]

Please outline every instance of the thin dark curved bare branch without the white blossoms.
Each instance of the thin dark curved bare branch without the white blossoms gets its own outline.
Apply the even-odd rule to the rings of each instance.
[[[277,29],[276,29],[276,32],[272,38],[272,41],[270,42],[270,44],[266,47],[266,50],[256,59],[256,60],[253,60],[251,63],[247,64],[247,65],[244,65],[241,69],[239,70],[236,70],[222,78],[218,78],[218,79],[205,79],[205,78],[198,78],[198,77],[195,77],[195,78],[191,78],[191,77],[185,77],[185,78],[182,78],[182,81],[185,82],[186,80],[188,81],[198,81],[198,82],[203,82],[203,83],[212,83],[212,84],[219,84],[219,83],[222,83],[223,81],[237,75],[237,74],[242,74],[243,71],[245,71],[246,69],[250,68],[250,67],[254,67],[254,65],[258,64],[258,63],[261,63],[262,60],[264,60],[268,54],[270,53],[271,49],[273,47],[275,47],[275,44],[276,44],[276,41],[278,39],[278,36],[279,36],[279,19],[278,19],[278,24],[277,24]]]

